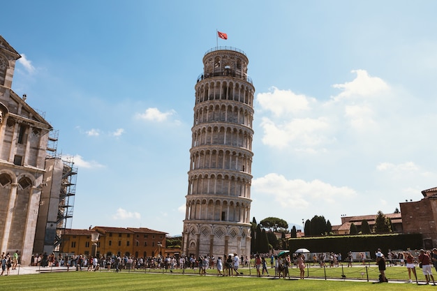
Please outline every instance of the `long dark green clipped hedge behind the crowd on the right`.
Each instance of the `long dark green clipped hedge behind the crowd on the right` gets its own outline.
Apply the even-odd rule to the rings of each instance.
[[[361,234],[288,239],[291,253],[297,248],[308,248],[311,253],[341,253],[343,258],[346,258],[349,251],[370,251],[371,258],[375,258],[378,248],[386,254],[389,249],[416,249],[422,248],[422,244],[422,234]]]

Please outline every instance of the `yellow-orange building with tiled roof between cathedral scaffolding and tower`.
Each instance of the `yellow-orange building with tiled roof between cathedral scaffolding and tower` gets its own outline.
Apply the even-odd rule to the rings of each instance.
[[[165,234],[158,230],[140,227],[96,226],[91,230],[65,230],[61,253],[90,255],[94,244],[91,234],[99,234],[96,253],[98,257],[112,255],[132,255],[135,258],[155,257],[165,253]]]

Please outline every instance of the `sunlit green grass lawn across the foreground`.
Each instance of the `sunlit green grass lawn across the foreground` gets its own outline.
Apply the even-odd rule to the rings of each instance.
[[[350,268],[352,269],[352,268]],[[214,270],[215,271],[215,270]],[[0,277],[0,290],[437,290],[431,285],[324,279],[272,279],[156,274],[140,271],[119,273],[69,271]]]

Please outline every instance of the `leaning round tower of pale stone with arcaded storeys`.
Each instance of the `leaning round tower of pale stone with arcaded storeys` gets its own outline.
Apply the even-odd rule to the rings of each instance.
[[[214,47],[195,84],[184,255],[251,253],[253,87],[242,50]]]

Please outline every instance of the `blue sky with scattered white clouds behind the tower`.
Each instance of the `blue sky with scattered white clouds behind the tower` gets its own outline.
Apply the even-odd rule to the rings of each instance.
[[[251,216],[391,213],[437,181],[436,1],[9,1],[13,90],[78,167],[73,228],[182,232],[194,86],[218,40],[255,85]],[[7,12],[7,13],[5,13]]]

